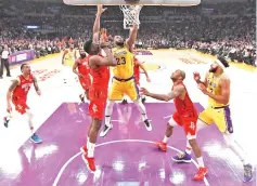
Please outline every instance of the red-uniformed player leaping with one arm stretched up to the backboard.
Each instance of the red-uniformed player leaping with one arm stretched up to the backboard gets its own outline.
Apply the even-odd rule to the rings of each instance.
[[[100,34],[100,17],[106,9],[102,5],[98,5],[98,13],[93,25],[93,40],[87,41],[83,45],[85,51],[89,54],[89,67],[92,76],[92,85],[89,89],[89,115],[92,118],[92,122],[88,130],[87,145],[81,147],[83,151],[82,159],[87,163],[89,170],[95,171],[94,164],[94,147],[97,143],[97,136],[102,124],[104,108],[107,99],[110,69],[108,66],[116,66],[112,50],[107,45],[101,43],[106,57],[100,55],[101,48],[99,44]],[[104,40],[102,40],[104,41]]]

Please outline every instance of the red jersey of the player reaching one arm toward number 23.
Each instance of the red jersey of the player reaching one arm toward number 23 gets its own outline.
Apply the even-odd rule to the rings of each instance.
[[[185,85],[182,82],[179,83],[179,85],[184,87],[185,95],[184,95],[184,99],[181,99],[180,97],[176,97],[174,99],[175,107],[177,109],[178,115],[179,116],[184,116],[184,117],[185,116],[193,117],[193,116],[197,115],[196,109],[194,107],[194,104],[193,104],[193,102],[191,101],[191,98],[189,96],[189,92],[188,92]],[[172,88],[172,90],[174,90],[174,88]]]

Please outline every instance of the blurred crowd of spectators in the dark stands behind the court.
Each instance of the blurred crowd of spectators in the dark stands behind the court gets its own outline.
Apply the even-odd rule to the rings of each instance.
[[[229,2],[227,2],[229,1]],[[194,49],[233,62],[256,65],[256,1],[203,1],[197,6],[144,6],[138,45],[147,49]],[[0,54],[35,50],[37,57],[60,52],[91,37],[95,6],[70,6],[61,0],[0,2]],[[123,12],[108,6],[102,26],[111,36],[128,36]]]

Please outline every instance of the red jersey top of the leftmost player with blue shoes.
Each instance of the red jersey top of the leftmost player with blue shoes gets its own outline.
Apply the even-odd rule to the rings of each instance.
[[[29,75],[27,79],[24,78],[23,75],[17,77],[20,84],[14,89],[13,96],[16,98],[27,98],[28,91],[30,87],[33,85],[33,75]]]

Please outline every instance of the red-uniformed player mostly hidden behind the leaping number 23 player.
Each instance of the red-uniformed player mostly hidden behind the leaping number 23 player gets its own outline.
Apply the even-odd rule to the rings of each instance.
[[[133,58],[133,76],[134,76],[134,81],[136,81],[136,84],[138,87],[138,89],[140,89],[140,69],[143,70],[145,77],[146,77],[146,81],[147,82],[151,82],[150,78],[149,78],[149,74],[147,74],[147,70],[144,68],[143,64],[141,64],[141,62],[134,56]],[[141,98],[142,98],[142,103],[145,102],[145,96],[144,95],[140,95]],[[127,104],[128,101],[127,98],[125,97],[121,102],[123,104]]]

